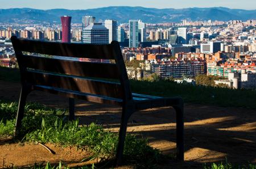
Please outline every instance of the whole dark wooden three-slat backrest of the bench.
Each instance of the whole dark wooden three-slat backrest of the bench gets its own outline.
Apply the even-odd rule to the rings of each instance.
[[[63,88],[124,101],[131,99],[129,79],[117,41],[95,45],[26,40],[12,36],[11,42],[23,84]],[[69,59],[63,59],[65,57]],[[83,62],[79,58],[110,62]]]

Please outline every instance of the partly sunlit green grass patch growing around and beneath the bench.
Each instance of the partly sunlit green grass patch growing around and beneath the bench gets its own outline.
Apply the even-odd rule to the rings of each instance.
[[[0,100],[0,137],[13,136],[17,103]],[[79,120],[68,121],[62,109],[47,108],[30,103],[25,107],[19,140],[40,143],[56,143],[86,149],[88,159],[113,159],[118,143],[117,133],[104,130],[94,123],[79,126]],[[136,162],[140,168],[154,167],[164,156],[148,146],[147,140],[127,134],[123,151],[126,163]],[[87,159],[86,159],[87,160]],[[144,163],[147,162],[147,163]]]

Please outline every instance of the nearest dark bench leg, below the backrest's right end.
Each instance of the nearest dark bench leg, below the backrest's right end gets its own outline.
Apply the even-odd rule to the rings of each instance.
[[[125,136],[129,117],[126,116],[126,111],[122,111],[121,126],[119,130],[117,154],[115,155],[115,165],[120,166],[123,160],[123,149],[125,147]]]

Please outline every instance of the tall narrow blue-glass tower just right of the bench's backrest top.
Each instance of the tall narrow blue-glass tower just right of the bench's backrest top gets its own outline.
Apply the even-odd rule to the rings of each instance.
[[[129,47],[137,48],[139,45],[138,20],[129,20]]]

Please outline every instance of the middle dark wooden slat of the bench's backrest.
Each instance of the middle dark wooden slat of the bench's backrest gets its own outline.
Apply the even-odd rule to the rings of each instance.
[[[60,60],[28,55],[20,57],[20,60],[25,67],[32,69],[81,77],[119,79],[119,71],[116,64]]]

